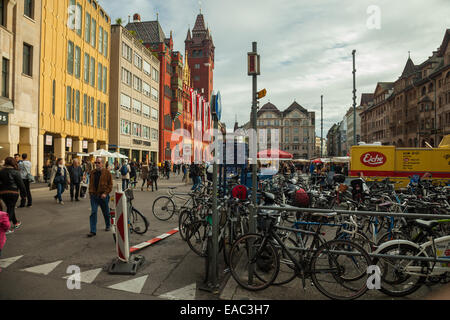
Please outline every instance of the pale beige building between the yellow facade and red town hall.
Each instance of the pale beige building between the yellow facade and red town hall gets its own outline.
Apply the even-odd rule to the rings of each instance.
[[[109,150],[158,161],[160,62],[130,31],[111,27]]]

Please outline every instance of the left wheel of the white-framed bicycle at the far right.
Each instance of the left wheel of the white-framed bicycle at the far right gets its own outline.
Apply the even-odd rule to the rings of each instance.
[[[419,254],[419,249],[406,243],[394,243],[381,250],[380,254],[416,256]],[[381,270],[380,291],[392,297],[404,297],[417,291],[426,279],[425,276],[417,275],[420,271],[411,274],[405,270],[408,266],[420,266],[427,270],[428,263],[425,261],[375,258],[373,264],[378,265]]]

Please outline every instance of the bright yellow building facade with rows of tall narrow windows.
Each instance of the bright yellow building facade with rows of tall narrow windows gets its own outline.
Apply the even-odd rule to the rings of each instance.
[[[94,0],[42,0],[39,167],[108,149],[111,18]]]

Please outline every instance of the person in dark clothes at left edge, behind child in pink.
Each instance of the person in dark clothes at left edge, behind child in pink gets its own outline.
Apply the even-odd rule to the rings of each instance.
[[[9,220],[12,222],[11,230],[7,233],[14,232],[22,224],[17,221],[15,212],[16,203],[19,200],[19,191],[21,196],[26,194],[19,167],[14,158],[7,157],[3,169],[0,170],[0,199],[5,203],[6,212],[8,212]]]

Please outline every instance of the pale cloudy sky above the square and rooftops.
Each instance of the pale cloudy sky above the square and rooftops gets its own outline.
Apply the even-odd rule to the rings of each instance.
[[[174,50],[200,12],[215,46],[214,91],[220,91],[221,121],[233,128],[250,119],[252,78],[247,53],[256,41],[261,56],[258,90],[281,111],[295,100],[316,111],[320,136],[320,96],[324,96],[324,137],[353,105],[352,51],[356,50],[357,104],[377,82],[395,81],[410,52],[424,62],[450,28],[449,0],[100,0],[113,23],[141,15],[158,20]]]

